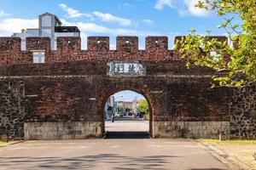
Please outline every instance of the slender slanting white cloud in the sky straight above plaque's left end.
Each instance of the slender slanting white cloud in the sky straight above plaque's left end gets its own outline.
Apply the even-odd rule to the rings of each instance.
[[[99,11],[94,11],[92,14],[95,14],[96,17],[102,21],[105,22],[117,22],[121,26],[130,26],[131,25],[131,20],[120,18],[118,16],[114,16],[113,14],[103,14]]]

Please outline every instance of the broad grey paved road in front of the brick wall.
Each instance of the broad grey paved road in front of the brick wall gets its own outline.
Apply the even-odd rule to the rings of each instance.
[[[225,170],[187,139],[27,141],[0,148],[0,169]]]

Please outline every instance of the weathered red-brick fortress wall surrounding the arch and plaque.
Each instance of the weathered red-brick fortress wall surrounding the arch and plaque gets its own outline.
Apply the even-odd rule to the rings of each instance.
[[[99,137],[108,97],[133,90],[148,99],[155,137],[218,138],[224,131],[227,137],[255,139],[255,86],[211,88],[213,71],[198,66],[188,70],[178,52],[168,50],[167,37],[147,37],[146,50],[138,50],[137,37],[117,37],[117,50],[109,50],[109,37],[88,37],[87,50],[81,50],[78,37],[59,37],[56,51],[49,41],[27,38],[21,52],[19,38],[0,37],[0,135]],[[32,64],[30,50],[38,49],[45,50],[44,64]],[[147,74],[108,77],[113,60],[140,61]]]

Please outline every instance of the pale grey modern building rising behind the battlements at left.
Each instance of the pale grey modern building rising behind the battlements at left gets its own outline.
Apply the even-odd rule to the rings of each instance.
[[[57,48],[57,37],[80,37],[77,26],[61,26],[61,20],[55,14],[40,14],[38,25],[38,28],[27,28],[13,34],[12,37],[21,38],[21,50],[26,50],[26,37],[50,37],[53,50]]]

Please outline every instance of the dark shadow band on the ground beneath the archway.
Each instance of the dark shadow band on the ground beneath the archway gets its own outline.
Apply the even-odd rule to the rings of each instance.
[[[151,139],[148,132],[107,132],[103,139]]]

